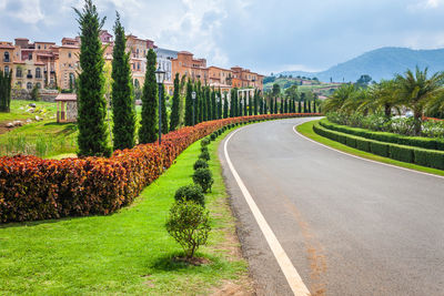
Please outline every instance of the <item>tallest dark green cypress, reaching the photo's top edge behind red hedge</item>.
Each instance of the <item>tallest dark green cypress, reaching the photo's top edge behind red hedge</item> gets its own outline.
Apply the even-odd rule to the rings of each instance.
[[[80,25],[80,68],[78,88],[79,156],[110,156],[107,133],[103,48],[99,34],[104,20],[95,6],[85,0],[82,11],[74,9]]]

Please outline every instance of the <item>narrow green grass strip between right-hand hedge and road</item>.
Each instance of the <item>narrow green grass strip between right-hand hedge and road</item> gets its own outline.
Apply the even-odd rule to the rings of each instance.
[[[324,136],[321,136],[313,131],[313,125],[317,122],[319,121],[310,121],[310,122],[303,123],[303,124],[299,125],[296,127],[296,130],[301,134],[303,134],[306,137],[310,137],[316,142],[320,142],[324,145],[331,146],[339,151],[343,151],[343,152],[346,152],[346,153],[350,153],[350,154],[353,154],[353,155],[356,155],[356,156],[360,156],[363,159],[377,161],[377,162],[382,162],[382,163],[386,163],[386,164],[393,164],[393,165],[397,165],[401,167],[411,169],[411,170],[415,170],[415,171],[420,171],[420,172],[424,172],[424,173],[444,176],[444,171],[441,171],[441,170],[425,167],[425,166],[421,166],[421,165],[416,165],[416,164],[412,164],[412,163],[398,162],[398,161],[395,161],[392,159],[387,159],[387,157],[379,156],[379,155],[375,155],[375,154],[372,154],[369,152],[356,150],[356,149],[346,146],[344,144],[341,144],[339,142],[332,141],[330,139],[326,139]]]

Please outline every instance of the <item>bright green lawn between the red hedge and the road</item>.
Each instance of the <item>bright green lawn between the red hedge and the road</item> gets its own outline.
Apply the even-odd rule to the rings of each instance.
[[[245,280],[246,262],[228,206],[216,149],[209,146],[214,175],[206,195],[212,215],[210,244],[198,253],[211,261],[189,266],[172,258],[182,248],[164,228],[175,190],[192,183],[200,142],[148,186],[135,202],[110,216],[0,226],[0,295],[201,295],[222,283]]]

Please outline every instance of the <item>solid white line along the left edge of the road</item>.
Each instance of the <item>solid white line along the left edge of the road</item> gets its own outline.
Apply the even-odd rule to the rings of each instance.
[[[242,129],[240,129],[242,130]],[[231,137],[240,130],[234,131],[225,141],[224,143],[224,154],[226,159],[226,163],[231,170],[231,173],[234,176],[239,187],[242,191],[242,194],[250,206],[251,212],[253,213],[254,218],[258,222],[259,227],[261,228],[263,235],[265,236],[266,242],[271,251],[273,252],[274,257],[278,261],[279,266],[281,267],[282,272],[285,275],[286,282],[289,283],[293,294],[296,296],[310,296],[310,290],[306,288],[305,284],[302,282],[301,276],[299,275],[296,268],[293,266],[292,262],[290,261],[289,256],[286,255],[285,251],[279,243],[276,236],[274,235],[273,231],[271,229],[270,225],[266,223],[265,217],[262,215],[261,211],[259,210],[258,205],[255,204],[253,197],[251,196],[250,192],[245,187],[242,178],[239,176],[236,170],[234,169],[229,153],[228,153],[228,143],[230,142]]]

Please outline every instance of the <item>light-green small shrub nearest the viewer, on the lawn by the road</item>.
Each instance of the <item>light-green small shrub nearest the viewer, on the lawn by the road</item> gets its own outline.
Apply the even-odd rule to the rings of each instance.
[[[165,227],[182,246],[186,258],[192,258],[201,245],[206,245],[211,231],[210,214],[194,202],[176,202],[170,210]]]

